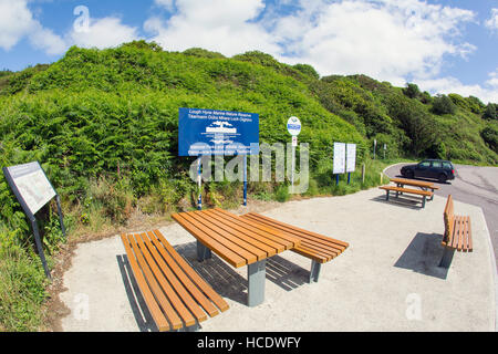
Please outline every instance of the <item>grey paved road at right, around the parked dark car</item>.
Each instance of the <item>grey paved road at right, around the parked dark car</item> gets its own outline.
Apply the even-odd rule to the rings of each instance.
[[[388,177],[403,177],[400,174],[403,165],[408,164],[392,166],[385,174]],[[483,208],[498,264],[498,167],[455,165],[455,168],[457,176],[454,180],[435,183],[440,187],[436,195],[453,195],[455,200]]]

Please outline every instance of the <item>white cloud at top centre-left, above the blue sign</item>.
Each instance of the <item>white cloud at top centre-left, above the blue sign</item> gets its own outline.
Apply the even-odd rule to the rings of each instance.
[[[262,0],[176,0],[175,6],[177,12],[168,21],[153,17],[144,24],[151,40],[167,50],[201,46],[225,55],[280,52],[273,35],[251,21],[264,9]]]

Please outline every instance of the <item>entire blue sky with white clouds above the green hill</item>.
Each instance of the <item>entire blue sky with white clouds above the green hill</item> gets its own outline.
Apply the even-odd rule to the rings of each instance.
[[[498,0],[0,0],[0,70],[137,39],[498,102]]]

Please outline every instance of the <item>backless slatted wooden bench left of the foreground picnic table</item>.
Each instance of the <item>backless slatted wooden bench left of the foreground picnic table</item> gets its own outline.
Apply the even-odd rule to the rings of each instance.
[[[158,231],[122,235],[129,266],[159,331],[197,330],[228,310],[226,301]]]

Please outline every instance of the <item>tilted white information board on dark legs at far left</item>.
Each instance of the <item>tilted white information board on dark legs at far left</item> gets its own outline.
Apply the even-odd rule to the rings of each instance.
[[[55,197],[59,220],[61,223],[62,233],[65,237],[60,197],[38,162],[3,167],[2,170],[7,183],[31,222],[38,254],[42,261],[45,275],[50,279],[50,270],[46,266],[45,256],[43,253],[43,244],[40,238],[40,230],[37,225],[35,214],[53,197]]]

